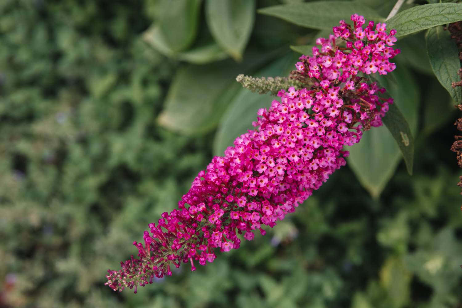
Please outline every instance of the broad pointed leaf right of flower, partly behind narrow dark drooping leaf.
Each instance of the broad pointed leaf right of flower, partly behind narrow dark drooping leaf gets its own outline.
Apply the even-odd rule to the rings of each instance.
[[[401,110],[412,133],[415,133],[419,88],[412,74],[405,66],[398,65],[393,73],[378,76],[377,79],[389,95],[395,99],[394,104]],[[385,123],[392,119],[396,124],[400,122],[399,118],[395,118],[396,111],[394,109],[395,107],[390,107],[392,118],[384,119]],[[401,131],[403,135],[401,135]],[[349,149],[348,165],[358,177],[359,182],[374,198],[377,198],[383,191],[401,159],[398,144],[401,143],[406,148],[412,146],[412,134],[406,132],[403,127],[398,128],[398,133],[399,138],[395,138],[388,127],[372,127],[371,130],[364,132],[359,143]],[[407,143],[409,145],[406,146]]]

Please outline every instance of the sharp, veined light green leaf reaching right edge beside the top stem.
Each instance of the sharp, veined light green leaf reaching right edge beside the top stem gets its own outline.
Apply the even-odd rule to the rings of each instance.
[[[396,29],[396,37],[401,37],[459,20],[462,20],[460,4],[424,4],[399,12],[387,21],[387,28]]]

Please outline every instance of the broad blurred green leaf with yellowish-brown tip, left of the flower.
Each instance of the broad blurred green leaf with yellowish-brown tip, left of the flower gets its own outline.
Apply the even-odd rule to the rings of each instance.
[[[258,69],[274,55],[245,54],[240,64],[228,59],[180,68],[170,85],[158,123],[187,135],[212,130],[241,87],[236,76]]]

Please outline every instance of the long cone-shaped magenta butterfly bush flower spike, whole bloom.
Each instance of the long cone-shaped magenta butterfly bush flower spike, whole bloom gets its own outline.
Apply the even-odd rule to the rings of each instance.
[[[215,252],[239,248],[243,235],[252,240],[262,226],[274,227],[344,166],[344,145],[359,142],[363,130],[382,125],[392,99],[365,75],[387,74],[395,30],[356,14],[353,27],[340,21],[333,35],[318,38],[313,56],[301,56],[296,77],[309,88],[280,90],[280,100],[258,110],[254,130],[237,137],[224,157],[213,157],[199,172],[178,209],[149,224],[143,243],[134,242],[138,258],[108,270],[113,290],[152,283],[171,275],[172,266],[206,265]],[[342,44],[343,42],[343,44]]]

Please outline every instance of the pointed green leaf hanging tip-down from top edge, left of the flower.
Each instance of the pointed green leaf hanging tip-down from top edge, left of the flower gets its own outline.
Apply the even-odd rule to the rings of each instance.
[[[215,41],[242,60],[255,21],[255,0],[208,0],[206,18]]]

